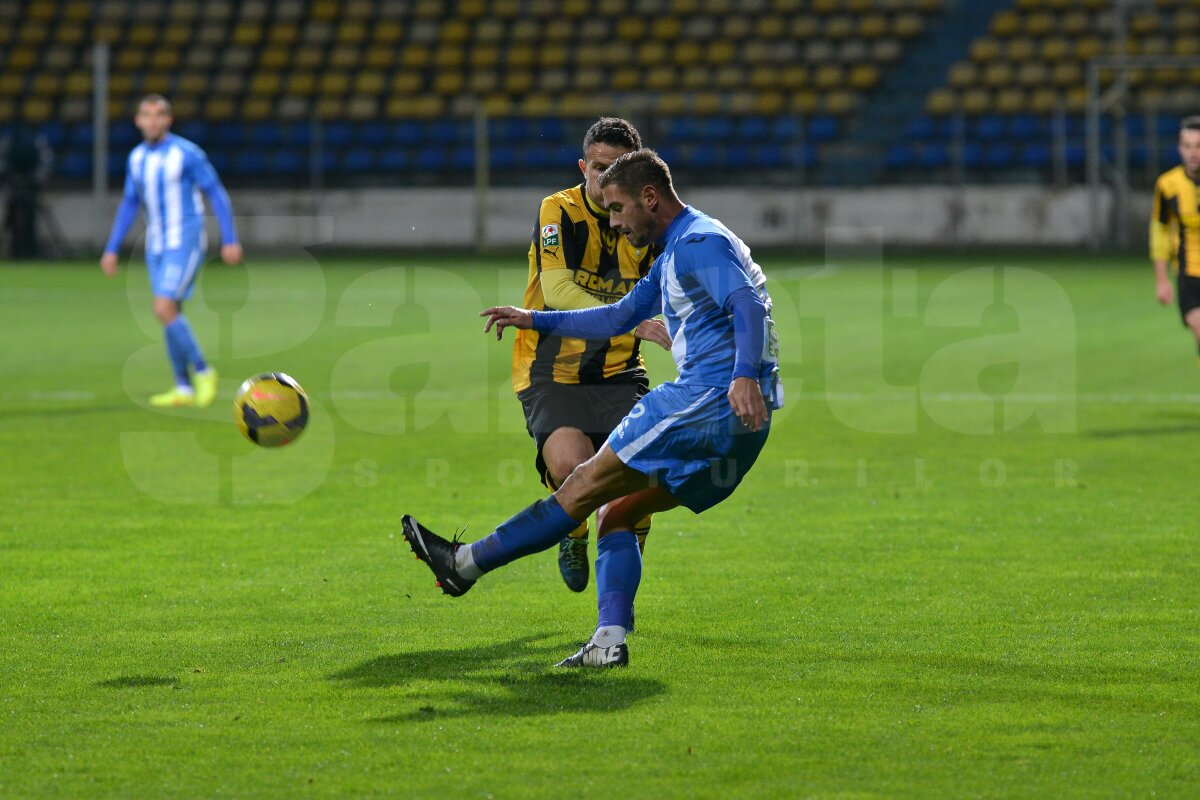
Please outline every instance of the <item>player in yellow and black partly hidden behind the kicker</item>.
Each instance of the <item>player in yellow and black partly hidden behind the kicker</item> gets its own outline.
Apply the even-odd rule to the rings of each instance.
[[[524,307],[569,311],[616,302],[650,270],[655,253],[634,247],[608,225],[598,185],[619,156],[642,138],[628,121],[598,120],[583,137],[583,182],[541,201],[529,245]],[[610,339],[575,339],[518,331],[512,347],[512,389],[538,445],[538,471],[550,489],[595,455],[612,429],[647,392],[641,339],[670,349],[658,320]],[[644,546],[649,517],[635,531]],[[574,591],[588,585],[587,522],[563,540],[558,566]]]

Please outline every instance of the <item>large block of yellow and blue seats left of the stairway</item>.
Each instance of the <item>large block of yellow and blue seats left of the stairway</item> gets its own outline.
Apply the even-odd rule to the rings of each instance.
[[[514,176],[566,156],[569,169],[602,110],[672,139],[682,169],[810,167],[941,6],[23,0],[0,4],[0,126],[90,132],[91,42],[106,41],[112,146],[136,142],[133,103],[158,91],[234,182],[307,175],[317,143],[334,180],[469,179],[476,106],[492,118],[491,167]],[[64,179],[86,173],[88,136],[55,143]]]

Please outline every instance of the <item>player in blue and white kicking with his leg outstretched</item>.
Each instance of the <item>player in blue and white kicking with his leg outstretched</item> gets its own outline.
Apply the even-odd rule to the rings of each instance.
[[[442,591],[460,596],[482,575],[553,547],[599,510],[599,622],[560,667],[629,663],[625,632],[642,576],[634,525],[678,505],[700,513],[732,494],[767,441],[772,410],[782,405],[770,297],[750,248],[679,200],[670,169],[653,150],[617,158],[600,186],[610,224],[635,247],[662,248],[649,273],[610,306],[488,308],[484,330],[494,326],[497,338],[505,327],[602,338],[662,313],[679,377],[638,401],[557,492],[491,535],[464,545],[403,518],[413,552]]]

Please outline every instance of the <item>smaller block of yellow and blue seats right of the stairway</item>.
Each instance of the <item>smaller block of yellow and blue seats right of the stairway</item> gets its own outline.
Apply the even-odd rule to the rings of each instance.
[[[1026,170],[1044,179],[1057,161],[1057,169],[1078,179],[1086,162],[1085,65],[1116,55],[1115,13],[1109,0],[1015,0],[994,14],[989,32],[970,43],[967,58],[930,92],[925,116],[910,124],[904,143],[890,148],[888,167],[898,174],[916,174],[928,161],[949,167],[956,151],[956,166],[967,173],[1000,173],[1004,180],[1012,176],[1004,170]],[[1200,59],[1200,4],[1135,5],[1126,52]],[[1112,71],[1098,77],[1103,89],[1117,79]],[[1200,109],[1200,60],[1133,70],[1128,82],[1123,125],[1130,166],[1153,173],[1176,163],[1178,119]],[[1111,120],[1102,122],[1110,140]],[[968,157],[976,154],[978,158]]]

